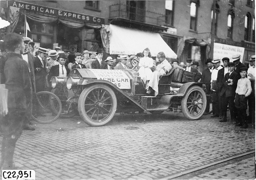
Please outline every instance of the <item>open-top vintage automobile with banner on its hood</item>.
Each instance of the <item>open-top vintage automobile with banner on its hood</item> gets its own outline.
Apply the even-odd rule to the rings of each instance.
[[[160,77],[159,94],[154,96],[146,93],[139,73],[132,69],[72,69],[66,78],[52,78],[52,92],[62,92],[63,116],[78,111],[91,126],[107,124],[115,113],[161,114],[178,105],[188,120],[197,120],[206,109],[206,94],[203,84],[194,79],[195,73],[173,67]]]

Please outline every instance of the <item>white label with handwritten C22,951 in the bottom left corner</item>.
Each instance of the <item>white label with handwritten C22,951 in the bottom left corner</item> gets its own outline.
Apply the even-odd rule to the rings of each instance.
[[[35,180],[34,170],[2,170],[2,180]]]

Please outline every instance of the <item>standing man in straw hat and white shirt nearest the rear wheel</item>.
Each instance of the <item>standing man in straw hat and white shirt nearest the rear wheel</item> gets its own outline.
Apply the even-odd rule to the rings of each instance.
[[[217,76],[218,76],[218,71],[223,67],[221,66],[220,58],[213,58],[211,62],[214,64],[214,67],[215,67],[211,73],[212,114],[213,114],[211,118],[214,118],[214,117],[219,117],[220,111],[221,111],[221,109],[219,109],[219,88],[217,85]]]

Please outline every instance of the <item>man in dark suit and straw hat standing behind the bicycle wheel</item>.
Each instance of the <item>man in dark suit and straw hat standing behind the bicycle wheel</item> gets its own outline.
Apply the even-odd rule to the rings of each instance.
[[[38,48],[38,55],[35,57],[34,69],[35,69],[35,88],[37,92],[45,91],[46,88],[46,69],[45,58],[48,49],[43,47]]]

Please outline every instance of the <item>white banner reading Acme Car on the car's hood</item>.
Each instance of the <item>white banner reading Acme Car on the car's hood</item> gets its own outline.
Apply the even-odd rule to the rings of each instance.
[[[130,78],[122,70],[90,69],[98,80],[113,83],[119,89],[131,89]]]

